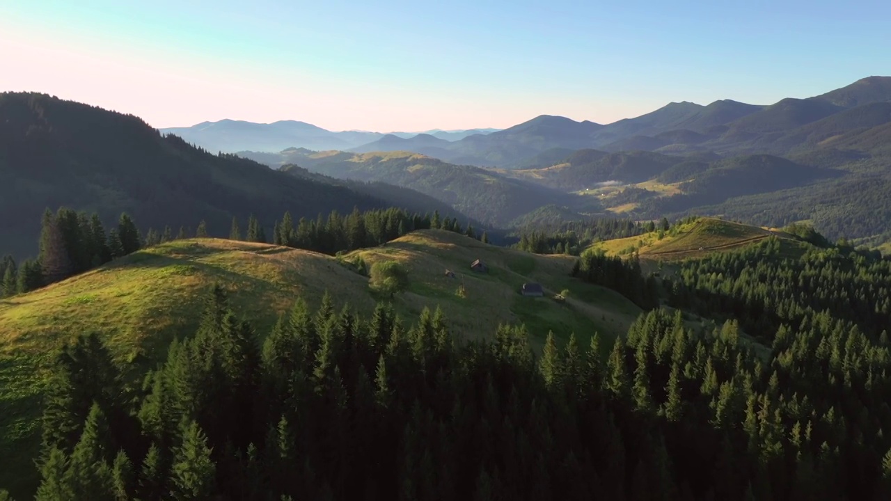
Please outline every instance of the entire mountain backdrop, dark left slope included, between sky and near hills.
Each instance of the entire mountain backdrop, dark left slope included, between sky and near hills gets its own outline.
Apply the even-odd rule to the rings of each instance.
[[[550,207],[567,218],[808,220],[830,238],[891,240],[888,77],[766,106],[671,103],[609,125],[542,115],[454,141],[442,135],[462,132],[331,133],[296,121],[190,128],[269,149],[212,154],[133,116],[0,94],[0,210],[20,215],[0,240],[32,252],[40,214],[60,205],[105,220],[127,211],[156,229],[205,219],[217,234],[233,217],[271,225],[285,210],[398,206],[508,228]],[[272,149],[296,136],[341,147]]]

